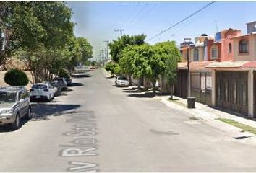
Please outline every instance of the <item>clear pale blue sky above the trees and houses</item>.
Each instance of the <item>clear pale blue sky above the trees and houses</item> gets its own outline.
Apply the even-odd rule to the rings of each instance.
[[[93,59],[99,58],[101,50],[106,49],[105,40],[116,40],[123,34],[147,35],[151,45],[175,40],[181,43],[184,37],[195,37],[206,33],[214,35],[217,31],[234,28],[246,34],[246,23],[256,20],[256,2],[217,1],[195,16],[187,19],[162,35],[148,40],[189,14],[209,4],[210,1],[70,1],[74,35],[86,37],[93,45]]]

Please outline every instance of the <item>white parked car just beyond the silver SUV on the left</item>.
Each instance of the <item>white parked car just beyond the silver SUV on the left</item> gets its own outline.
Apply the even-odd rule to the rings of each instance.
[[[30,100],[36,99],[46,99],[47,101],[54,99],[54,86],[48,83],[33,84],[30,89]]]

